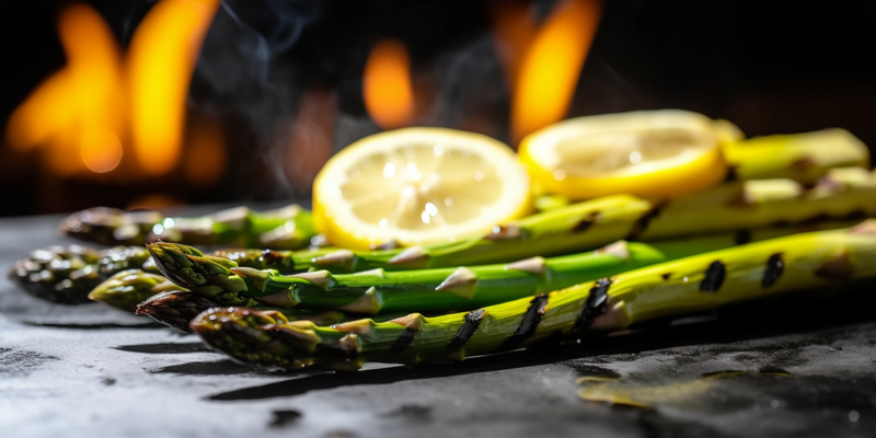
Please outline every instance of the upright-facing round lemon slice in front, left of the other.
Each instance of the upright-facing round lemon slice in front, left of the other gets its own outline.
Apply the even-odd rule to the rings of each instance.
[[[410,246],[483,235],[530,209],[514,151],[480,134],[404,128],[346,147],[316,175],[313,217],[348,249]]]

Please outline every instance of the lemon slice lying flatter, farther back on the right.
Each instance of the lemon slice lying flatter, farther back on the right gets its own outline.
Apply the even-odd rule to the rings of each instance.
[[[520,160],[544,193],[673,197],[724,180],[725,122],[680,110],[567,119],[526,137]]]

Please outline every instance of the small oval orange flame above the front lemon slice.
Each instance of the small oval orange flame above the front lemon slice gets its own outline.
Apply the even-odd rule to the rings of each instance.
[[[414,116],[411,60],[396,39],[379,42],[368,57],[362,83],[365,106],[380,127],[408,125]]]

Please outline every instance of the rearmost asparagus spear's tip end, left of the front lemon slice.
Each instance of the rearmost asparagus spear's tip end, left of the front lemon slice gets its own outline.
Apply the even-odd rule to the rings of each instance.
[[[200,245],[280,250],[306,247],[316,234],[310,211],[297,205],[264,212],[238,207],[198,218],[97,207],[64,219],[58,232],[105,245],[141,245],[160,239]]]

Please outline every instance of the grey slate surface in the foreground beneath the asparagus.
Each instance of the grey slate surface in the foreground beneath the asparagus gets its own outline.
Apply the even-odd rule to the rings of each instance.
[[[0,220],[0,269],[71,243],[55,235],[58,219]],[[252,370],[195,336],[99,304],[42,302],[2,278],[0,436],[876,436],[867,291],[337,374]]]

